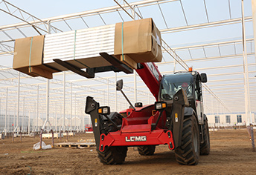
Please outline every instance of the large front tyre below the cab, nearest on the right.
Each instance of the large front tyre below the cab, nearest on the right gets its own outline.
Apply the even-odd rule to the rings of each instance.
[[[182,165],[197,165],[199,162],[200,139],[195,116],[184,119],[182,145],[176,148],[176,161]]]

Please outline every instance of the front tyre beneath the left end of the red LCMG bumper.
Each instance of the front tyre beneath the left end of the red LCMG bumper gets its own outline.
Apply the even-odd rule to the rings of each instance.
[[[105,165],[120,165],[124,162],[126,156],[127,147],[125,146],[112,146],[106,148],[103,152],[97,150],[97,157]]]

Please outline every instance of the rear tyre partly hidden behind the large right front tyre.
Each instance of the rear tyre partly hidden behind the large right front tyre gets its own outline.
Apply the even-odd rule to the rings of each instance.
[[[208,128],[208,119],[205,119],[205,124],[202,125],[203,143],[200,144],[200,154],[208,155],[210,153],[210,136]]]

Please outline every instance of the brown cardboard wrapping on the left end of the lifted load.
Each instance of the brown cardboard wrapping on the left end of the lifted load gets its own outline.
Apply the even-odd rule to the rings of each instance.
[[[13,69],[29,76],[42,76],[52,79],[52,73],[57,72],[42,64],[45,36],[33,36],[16,39],[13,56]]]

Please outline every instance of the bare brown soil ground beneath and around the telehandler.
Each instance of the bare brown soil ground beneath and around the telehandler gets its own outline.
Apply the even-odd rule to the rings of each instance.
[[[179,165],[167,145],[156,147],[153,156],[141,156],[136,148],[128,148],[123,165],[103,165],[97,159],[95,147],[54,148],[33,151],[39,137],[0,140],[0,174],[256,174],[256,152],[246,130],[210,133],[211,153],[200,156],[196,166]],[[83,133],[68,139],[92,139]],[[63,139],[64,140],[64,139]],[[43,139],[51,144],[51,139]],[[55,139],[55,142],[59,142]]]

